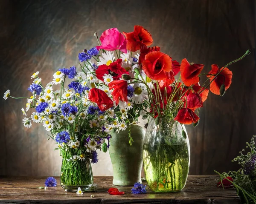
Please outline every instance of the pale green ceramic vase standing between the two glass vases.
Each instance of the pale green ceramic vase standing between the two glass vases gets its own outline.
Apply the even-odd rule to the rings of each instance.
[[[131,137],[134,142],[129,145],[129,126],[126,130],[111,132],[109,153],[113,165],[113,184],[133,186],[141,182],[142,149],[145,130],[138,125],[131,125]]]

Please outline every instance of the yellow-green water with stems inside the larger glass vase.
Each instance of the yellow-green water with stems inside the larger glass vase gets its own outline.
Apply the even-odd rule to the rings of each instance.
[[[144,144],[146,180],[155,192],[177,192],[186,185],[189,173],[188,144]]]

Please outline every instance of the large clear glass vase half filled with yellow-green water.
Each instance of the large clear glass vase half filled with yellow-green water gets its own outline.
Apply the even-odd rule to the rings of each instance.
[[[189,139],[184,125],[163,118],[150,119],[143,142],[143,164],[148,186],[155,192],[177,192],[187,181]]]

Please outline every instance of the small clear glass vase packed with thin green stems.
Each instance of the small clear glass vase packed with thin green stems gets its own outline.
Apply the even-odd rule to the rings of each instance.
[[[76,192],[78,187],[82,191],[93,185],[93,171],[90,160],[85,161],[62,159],[61,187],[67,192]]]

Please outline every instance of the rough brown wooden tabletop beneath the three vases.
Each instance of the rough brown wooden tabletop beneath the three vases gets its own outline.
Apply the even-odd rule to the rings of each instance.
[[[48,190],[39,189],[44,186],[46,177],[1,177],[0,178],[0,204],[17,203],[54,203],[54,204],[115,204],[115,203],[186,203],[186,204],[241,204],[239,196],[233,188],[216,187],[217,175],[190,175],[186,187],[177,193],[154,193],[148,187],[145,194],[131,194],[131,187],[117,187],[125,195],[109,195],[112,177],[95,176],[94,182],[98,184],[96,192],[84,192],[83,195],[67,193],[59,185],[49,187]],[[145,183],[145,181],[143,182]],[[90,198],[94,195],[94,198]]]

